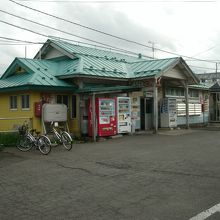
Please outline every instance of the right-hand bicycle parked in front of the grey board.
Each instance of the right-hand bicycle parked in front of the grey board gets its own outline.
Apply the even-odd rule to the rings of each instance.
[[[73,139],[70,134],[63,131],[59,126],[58,122],[51,122],[51,131],[53,139],[56,143],[62,144],[66,150],[71,150],[73,145]]]

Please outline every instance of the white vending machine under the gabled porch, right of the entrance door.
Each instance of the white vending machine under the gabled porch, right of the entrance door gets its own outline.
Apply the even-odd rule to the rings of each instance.
[[[165,98],[162,100],[160,116],[162,128],[177,127],[176,99]]]

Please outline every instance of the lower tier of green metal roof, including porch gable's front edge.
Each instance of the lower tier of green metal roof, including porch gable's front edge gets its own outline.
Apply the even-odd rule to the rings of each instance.
[[[91,57],[80,55],[68,64],[65,71],[57,73],[60,79],[74,77],[114,78],[118,80],[144,79],[161,77],[163,74],[179,65],[191,84],[196,84],[199,79],[191,71],[181,57],[139,60],[136,62],[124,62],[103,57]],[[67,65],[66,65],[67,67]]]

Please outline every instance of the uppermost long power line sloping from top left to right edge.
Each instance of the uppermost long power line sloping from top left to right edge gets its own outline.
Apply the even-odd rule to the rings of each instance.
[[[33,10],[33,11],[35,11],[35,12],[39,12],[39,13],[41,13],[41,14],[44,14],[44,15],[47,15],[47,16],[50,16],[50,17],[53,17],[53,18],[56,18],[56,19],[59,19],[59,20],[68,22],[68,23],[70,23],[70,24],[74,24],[74,25],[80,26],[80,27],[82,27],[82,28],[85,28],[85,29],[88,29],[88,30],[91,30],[91,31],[95,31],[95,32],[97,32],[97,33],[104,34],[104,35],[106,35],[106,36],[110,36],[110,37],[116,38],[116,39],[118,39],[118,40],[123,40],[123,41],[129,42],[129,43],[136,44],[136,45],[138,45],[138,46],[142,46],[142,47],[145,47],[145,48],[150,48],[150,49],[152,49],[152,47],[147,46],[147,45],[145,45],[145,44],[142,44],[142,43],[139,43],[139,42],[136,42],[136,41],[133,41],[133,40],[129,40],[129,39],[126,39],[126,38],[123,38],[123,37],[119,37],[119,36],[116,36],[116,35],[113,35],[113,34],[109,34],[109,33],[106,33],[106,32],[104,32],[104,31],[100,31],[100,30],[98,30],[98,29],[91,28],[91,27],[88,27],[88,26],[86,26],[86,25],[82,25],[82,24],[79,24],[79,23],[76,23],[76,22],[73,22],[73,21],[70,21],[70,20],[67,20],[67,19],[64,19],[64,18],[55,16],[55,15],[52,15],[52,14],[49,14],[49,13],[46,13],[46,12],[37,10],[37,9],[35,9],[35,8],[32,8],[32,7],[26,6],[26,5],[24,5],[24,4],[18,3],[18,2],[14,1],[14,0],[9,0],[9,1],[10,1],[10,2],[13,2],[13,3],[17,4],[17,5],[20,5],[20,6],[22,6],[22,7],[25,7],[25,8],[28,8],[28,9],[30,9],[30,10]],[[186,56],[186,55],[180,55],[180,54],[178,54],[178,53],[166,51],[166,50],[159,49],[159,48],[154,48],[154,49],[157,50],[157,51],[160,51],[160,52],[163,52],[163,53],[168,53],[168,54],[175,55],[175,56],[181,56],[181,57],[185,57],[185,58],[189,58],[189,59],[194,59],[194,60],[198,60],[198,61],[204,61],[204,62],[213,63],[212,60],[197,59],[197,58],[194,58],[194,57],[190,57],[190,56]]]

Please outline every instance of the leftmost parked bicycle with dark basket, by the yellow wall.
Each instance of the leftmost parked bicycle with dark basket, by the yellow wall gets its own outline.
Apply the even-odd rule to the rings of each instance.
[[[20,151],[29,151],[31,148],[35,147],[44,155],[50,153],[51,142],[47,136],[40,135],[40,132],[37,132],[36,129],[31,129],[29,131],[27,123],[20,126],[18,132],[20,137],[16,143],[16,147]],[[34,133],[36,135],[34,135]]]

